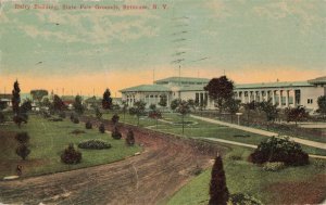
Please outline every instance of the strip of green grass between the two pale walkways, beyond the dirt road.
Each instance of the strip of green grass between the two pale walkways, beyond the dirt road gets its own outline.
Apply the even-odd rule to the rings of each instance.
[[[104,114],[103,118],[111,119],[112,113]],[[216,124],[206,123],[200,119],[195,119],[190,116],[185,116],[185,121],[191,121],[191,124],[185,125],[184,133],[183,126],[178,124],[181,120],[181,116],[176,113],[164,113],[162,120],[159,121],[158,128],[155,120],[142,116],[140,118],[140,127],[147,127],[162,132],[175,133],[184,137],[196,137],[196,138],[216,138],[229,141],[236,141],[241,143],[258,145],[267,137],[238,130],[235,128],[221,126]],[[137,125],[137,117],[126,113],[125,117],[120,114],[120,121]],[[241,137],[246,136],[246,137]],[[302,145],[302,149],[309,154],[324,155],[326,156],[326,150],[315,149],[308,145]]]

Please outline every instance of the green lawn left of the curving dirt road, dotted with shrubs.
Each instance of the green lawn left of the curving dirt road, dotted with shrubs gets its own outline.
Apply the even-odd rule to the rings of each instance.
[[[84,130],[86,133],[73,134],[73,130]],[[2,148],[0,145],[0,178],[14,175],[15,166],[17,164],[25,165],[24,176],[36,176],[49,172],[58,172],[71,169],[77,169],[83,167],[89,167],[100,164],[106,164],[124,159],[127,156],[134,155],[139,152],[140,146],[127,146],[124,140],[114,140],[111,134],[100,133],[98,128],[91,130],[85,129],[85,124],[73,124],[70,120],[64,121],[49,121],[38,116],[29,116],[28,124],[22,125],[18,129],[16,125],[2,125],[0,126],[2,133],[7,131],[27,131],[30,137],[30,154],[26,162],[15,154],[16,142],[13,139],[7,139],[11,144],[8,148],[4,143]],[[5,136],[4,136],[5,137]],[[65,165],[60,161],[61,152],[70,144],[74,143],[75,148],[80,141],[89,139],[101,139],[109,142],[112,148],[109,150],[82,150],[83,159],[77,165]],[[5,148],[3,148],[5,146]]]

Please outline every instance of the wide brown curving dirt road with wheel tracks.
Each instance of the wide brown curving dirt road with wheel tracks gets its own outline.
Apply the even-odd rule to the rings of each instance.
[[[125,134],[128,128],[120,129]],[[191,139],[133,129],[142,154],[109,165],[0,181],[0,203],[158,204],[193,177],[197,166],[209,166],[216,152],[224,151]]]

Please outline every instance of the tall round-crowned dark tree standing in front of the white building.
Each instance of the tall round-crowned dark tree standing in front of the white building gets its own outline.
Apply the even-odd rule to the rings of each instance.
[[[211,79],[208,86],[204,87],[204,90],[206,90],[209,97],[214,100],[221,117],[225,103],[234,97],[234,82],[226,76],[221,76],[220,78]]]

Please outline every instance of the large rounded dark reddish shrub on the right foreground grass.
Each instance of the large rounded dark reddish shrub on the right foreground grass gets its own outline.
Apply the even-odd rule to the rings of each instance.
[[[268,138],[261,142],[250,155],[255,164],[266,162],[283,162],[285,165],[301,166],[309,164],[309,155],[302,151],[301,145],[289,141],[288,138]]]

